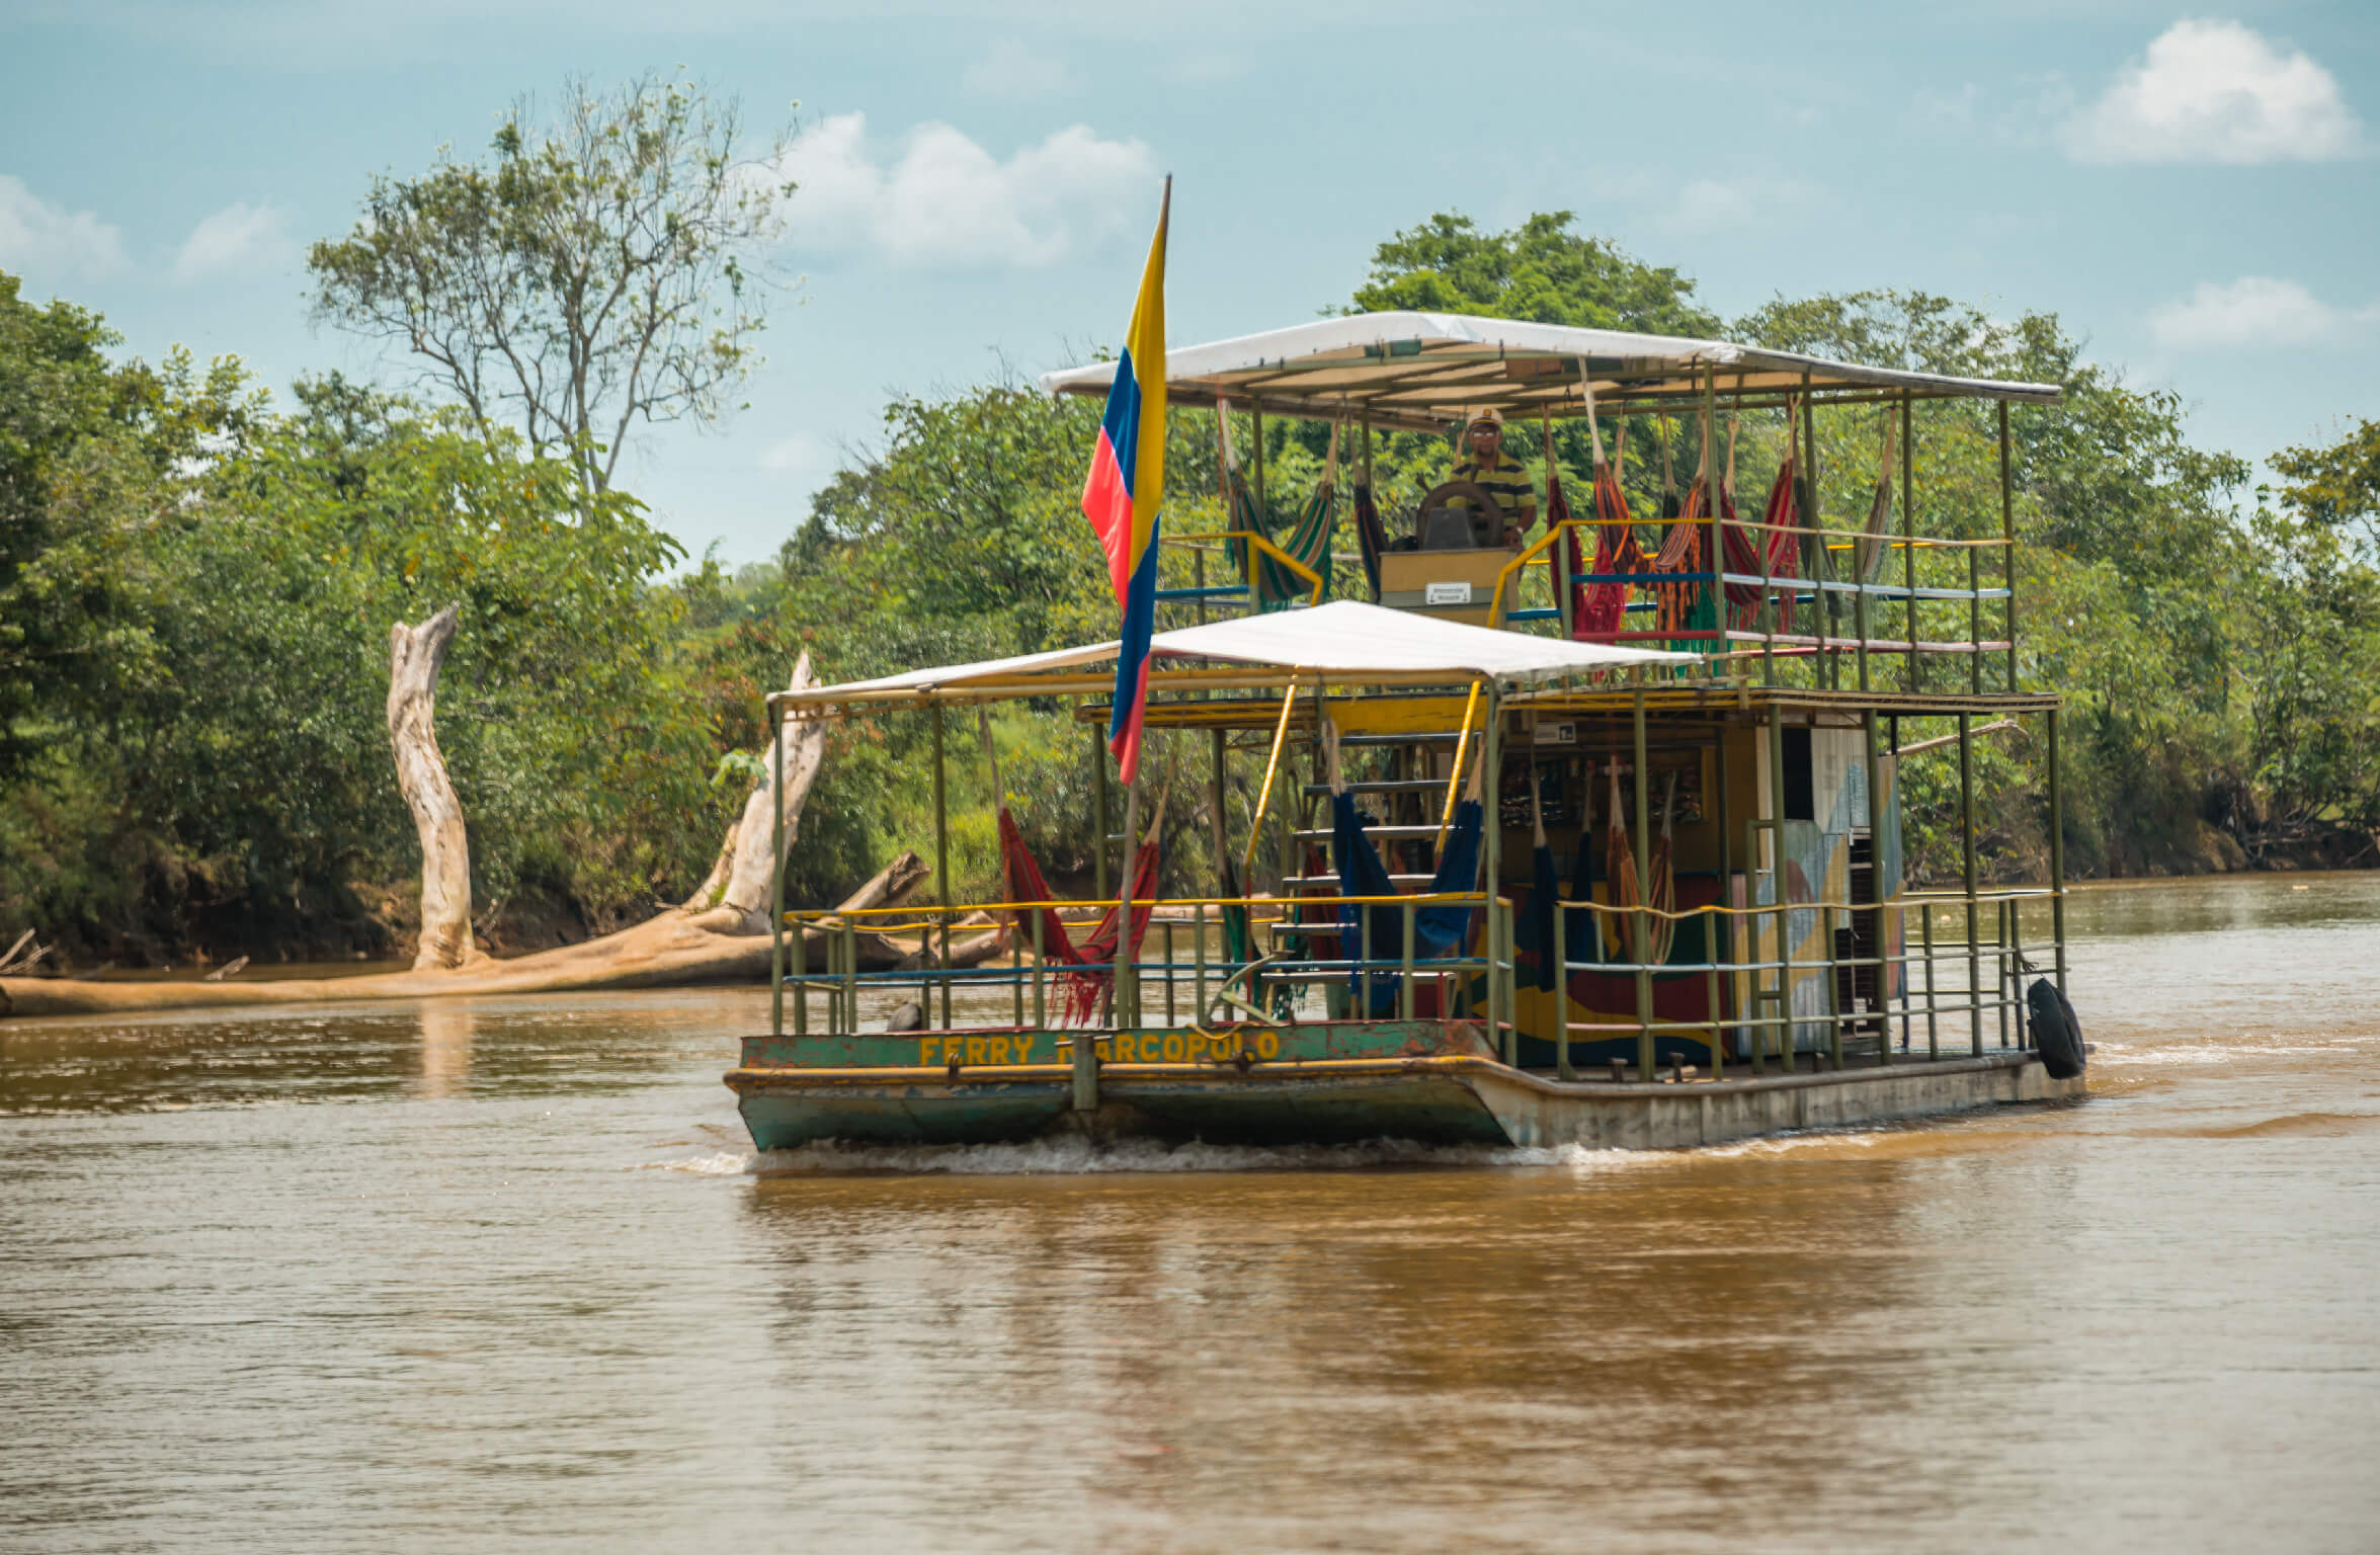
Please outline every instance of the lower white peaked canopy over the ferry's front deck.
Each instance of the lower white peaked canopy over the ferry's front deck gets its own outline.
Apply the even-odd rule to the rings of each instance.
[[[1057,672],[1104,664],[1116,657],[1116,643],[1057,648],[981,664],[945,664],[912,669],[845,686],[812,686],[778,693],[795,707],[833,702],[931,702],[947,693],[1045,695]],[[1164,664],[1257,664],[1309,674],[1347,676],[1352,681],[1442,683],[1492,676],[1497,681],[1552,681],[1566,674],[1626,669],[1630,664],[1695,664],[1692,652],[1652,648],[1616,648],[1604,643],[1566,643],[1518,631],[1492,631],[1440,622],[1404,610],[1383,610],[1359,600],[1333,600],[1311,610],[1280,610],[1230,622],[1207,622],[1180,631],[1159,631],[1150,641],[1152,686]]]

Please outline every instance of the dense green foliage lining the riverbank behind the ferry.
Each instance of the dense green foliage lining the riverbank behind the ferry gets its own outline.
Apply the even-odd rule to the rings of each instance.
[[[1856,293],[1721,324],[1690,279],[1564,214],[1504,233],[1433,217],[1380,245],[1352,305],[1730,333],[2059,383],[2059,410],[2011,414],[2011,517],[2018,674],[2071,698],[2071,869],[2370,860],[2380,421],[2285,450],[2275,481],[2254,486],[2247,464],[2187,438],[2173,395],[2085,360],[2056,317]],[[583,448],[531,448],[464,407],[336,376],[274,407],[236,362],[145,367],[114,345],[93,314],[24,302],[0,276],[0,931],[38,924],[83,962],[388,945],[416,872],[381,712],[388,626],[450,600],[462,631],[438,731],[497,943],[507,924],[512,943],[536,917],[576,933],[690,891],[743,788],[733,752],[759,745],[759,698],[800,652],[845,679],[1111,631],[1076,505],[1090,400],[1012,379],[895,398],[776,562],[671,576],[676,545],[626,493],[590,491]],[[1737,491],[1756,502],[1785,448],[1780,417],[1723,421],[1714,457],[1733,441]],[[1238,426],[1247,448],[1245,414]],[[1864,514],[1880,429],[1873,407],[1818,414],[1830,524]],[[1169,531],[1221,529],[1214,419],[1180,414],[1171,436]],[[1997,536],[1994,410],[1923,405],[1914,443],[1921,529]],[[1269,421],[1266,445],[1269,495],[1288,510],[1323,474],[1328,433]],[[1516,429],[1514,445],[1542,472],[1545,441]],[[1702,433],[1687,419],[1630,426],[1647,510],[1664,448],[1685,479]],[[1580,491],[1583,433],[1561,429],[1552,457]],[[1442,479],[1449,448],[1383,436],[1373,460],[1395,505]],[[1195,581],[1192,555],[1209,581],[1230,567],[1219,550],[1169,555],[1169,586]],[[1964,581],[1964,564],[1928,555],[1923,579]],[[1878,672],[1892,683],[1902,667]],[[1949,676],[1930,683],[1966,672],[1925,667]],[[1999,683],[2006,667],[1980,672]],[[916,717],[838,731],[804,819],[800,898],[931,848],[931,738]],[[1007,707],[992,724],[1002,791],[1071,883],[1090,874],[1095,738],[1061,707]],[[942,741],[959,888],[988,891],[990,769],[971,719]],[[2033,736],[1983,750],[1987,867],[2037,869],[2044,750]],[[1202,881],[1204,736],[1152,736],[1150,764],[1178,883]],[[1954,869],[1952,779],[1949,762],[1909,769],[1911,843],[1933,874]],[[1252,795],[1228,803],[1245,838]]]

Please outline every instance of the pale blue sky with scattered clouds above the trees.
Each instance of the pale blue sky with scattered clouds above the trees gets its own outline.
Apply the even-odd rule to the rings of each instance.
[[[643,71],[793,133],[750,405],[624,457],[731,564],[888,395],[1114,343],[1164,174],[1176,345],[1342,305],[1433,212],[1571,210],[1721,317],[1868,286],[2056,312],[2251,460],[2380,417],[2370,0],[0,0],[0,269],[129,355],[407,383],[309,319],[305,245],[524,93]]]

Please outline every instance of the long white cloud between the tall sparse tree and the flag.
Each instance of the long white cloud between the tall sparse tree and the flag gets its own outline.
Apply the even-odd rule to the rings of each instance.
[[[873,250],[921,269],[1052,264],[1083,238],[1157,217],[1150,148],[1085,124],[1007,162],[950,124],[919,124],[878,160],[866,114],[835,114],[793,143],[783,174],[800,186],[795,250]]]

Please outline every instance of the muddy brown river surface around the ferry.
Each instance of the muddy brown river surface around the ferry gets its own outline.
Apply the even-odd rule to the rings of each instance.
[[[7,1024],[0,1543],[2380,1550],[2380,874],[2071,917],[2087,1103],[1659,1155],[757,1160],[740,991]]]

